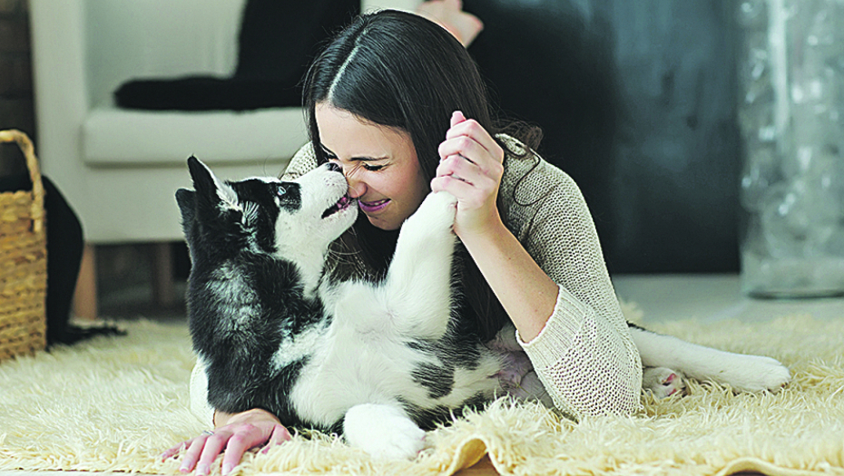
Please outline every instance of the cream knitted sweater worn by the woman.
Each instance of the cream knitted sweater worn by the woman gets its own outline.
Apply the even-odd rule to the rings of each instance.
[[[515,151],[521,144],[500,136]],[[310,144],[283,178],[314,169]],[[604,264],[583,194],[564,171],[535,154],[505,153],[499,188],[502,219],[536,264],[559,287],[554,313],[531,342],[516,339],[554,405],[574,418],[630,414],[640,404],[642,364]],[[191,377],[191,407],[211,421],[204,367]]]

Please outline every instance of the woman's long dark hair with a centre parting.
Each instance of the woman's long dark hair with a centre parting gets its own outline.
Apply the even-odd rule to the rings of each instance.
[[[436,176],[437,148],[454,111],[496,134],[486,86],[476,64],[454,36],[420,16],[385,10],[359,15],[311,66],[304,85],[309,135],[319,163],[318,103],[376,124],[407,131],[427,180]],[[380,277],[396,247],[397,231],[371,225],[362,213],[342,242]],[[479,334],[491,339],[508,321],[504,308],[466,249],[456,250],[462,292],[477,316]]]

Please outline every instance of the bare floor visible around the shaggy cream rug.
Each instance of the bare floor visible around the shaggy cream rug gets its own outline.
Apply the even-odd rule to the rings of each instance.
[[[810,312],[824,319],[844,317],[844,298],[760,300],[741,294],[740,278],[736,275],[657,275],[617,276],[613,285],[620,299],[633,302],[643,311],[645,319],[660,322],[675,319],[718,321],[736,318],[748,322],[770,320],[778,316]],[[177,281],[177,293],[183,296],[184,283]],[[103,289],[101,314],[115,318],[144,316],[153,319],[183,319],[183,303],[167,308],[149,304],[151,291],[142,282],[132,286]],[[0,471],[0,476],[63,476],[63,471]],[[495,475],[488,458],[460,476]],[[750,473],[743,473],[750,474]]]

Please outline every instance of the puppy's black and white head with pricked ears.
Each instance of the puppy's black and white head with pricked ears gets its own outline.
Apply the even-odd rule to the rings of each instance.
[[[195,190],[179,189],[176,201],[194,261],[197,253],[224,258],[244,249],[291,261],[321,258],[358,215],[336,164],[292,181],[222,182],[195,157],[188,168]]]

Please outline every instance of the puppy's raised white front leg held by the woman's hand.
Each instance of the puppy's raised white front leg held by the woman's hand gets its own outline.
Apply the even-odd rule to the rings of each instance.
[[[392,324],[403,335],[438,339],[447,331],[455,212],[454,196],[430,193],[401,227],[396,253],[379,292]]]

